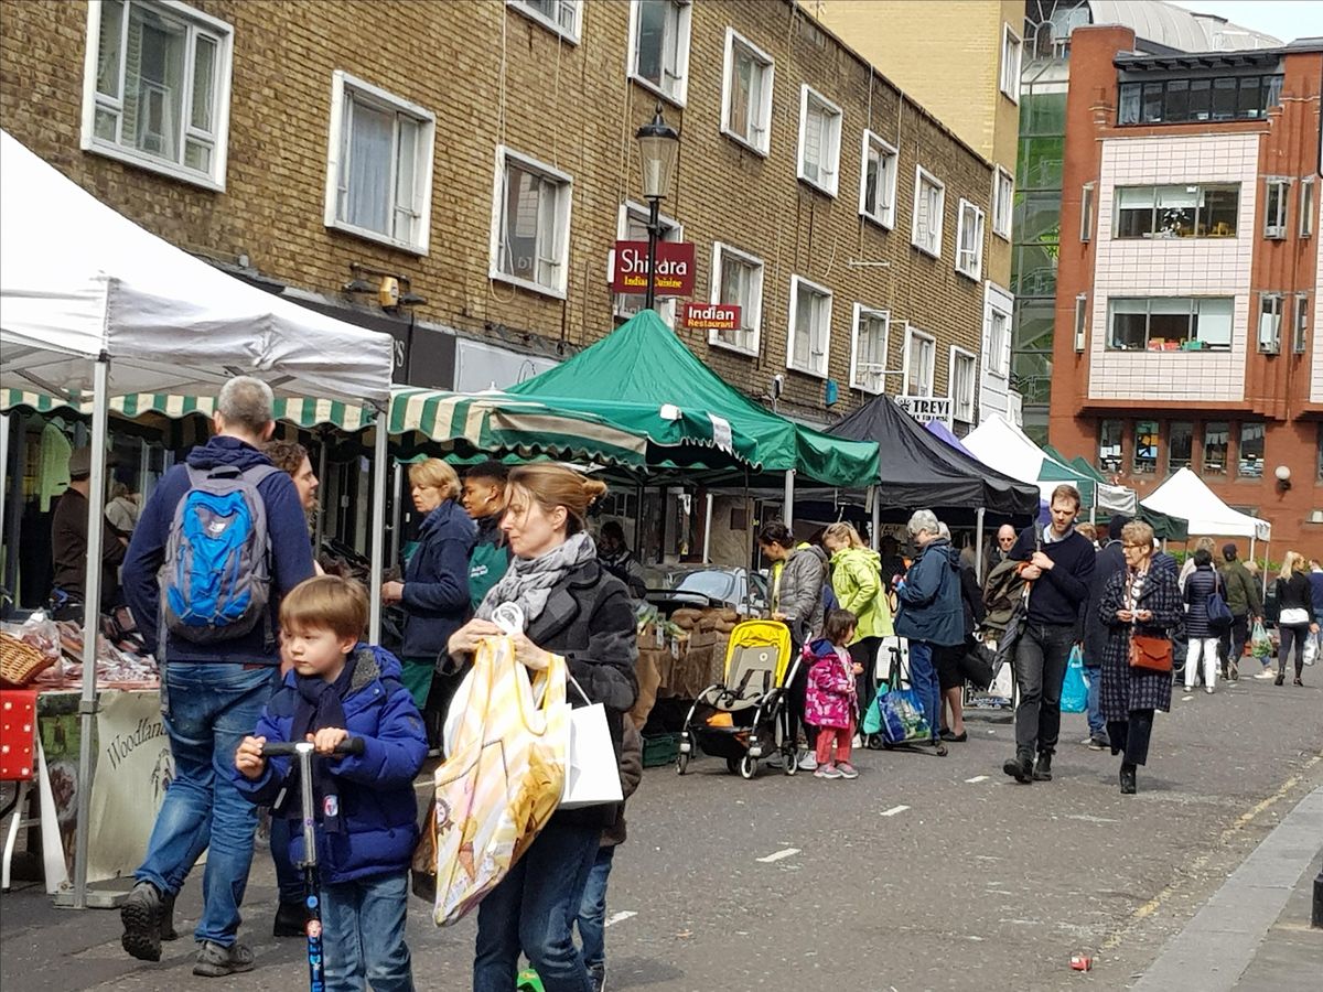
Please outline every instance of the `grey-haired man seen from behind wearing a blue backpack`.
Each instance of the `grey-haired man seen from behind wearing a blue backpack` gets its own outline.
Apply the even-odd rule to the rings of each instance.
[[[225,384],[216,436],[161,479],[124,559],[130,610],[160,665],[175,780],[120,909],[120,942],[160,960],[161,939],[175,936],[175,897],[205,849],[193,967],[204,977],[253,968],[235,936],[257,812],[216,768],[233,763],[278,685],[282,597],[314,574],[299,493],[261,451],[275,430],[273,405],[261,380]]]

